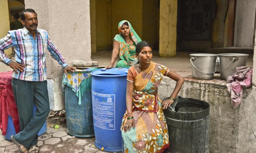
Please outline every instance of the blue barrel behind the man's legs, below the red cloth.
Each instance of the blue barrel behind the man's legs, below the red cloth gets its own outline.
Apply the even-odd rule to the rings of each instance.
[[[37,110],[37,108],[35,108],[35,106],[33,105],[33,114],[35,113],[36,110]],[[43,135],[46,131],[47,131],[47,125],[46,125],[46,121],[45,121],[42,128],[38,132],[38,136]],[[5,140],[11,141],[11,136],[12,135],[16,135],[16,131],[15,131],[15,128],[14,128],[12,117],[8,115],[6,135],[4,135],[3,138]]]

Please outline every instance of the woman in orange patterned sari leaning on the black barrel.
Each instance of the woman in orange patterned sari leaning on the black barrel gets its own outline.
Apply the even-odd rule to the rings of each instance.
[[[139,64],[127,75],[126,112],[121,132],[126,153],[161,153],[169,147],[169,135],[163,109],[168,108],[180,92],[184,78],[166,66],[152,62],[152,47],[141,41],[136,46]],[[176,81],[171,96],[161,101],[158,85],[163,76]]]

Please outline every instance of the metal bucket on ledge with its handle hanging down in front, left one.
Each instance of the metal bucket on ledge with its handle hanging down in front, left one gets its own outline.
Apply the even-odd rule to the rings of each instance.
[[[217,56],[217,54],[190,54],[193,78],[212,79],[217,71],[214,69]]]

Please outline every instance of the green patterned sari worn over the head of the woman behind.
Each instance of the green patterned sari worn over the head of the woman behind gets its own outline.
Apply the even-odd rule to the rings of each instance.
[[[134,41],[132,45],[127,44],[125,42],[124,37],[121,34],[121,27],[125,22],[129,24],[131,38]],[[130,22],[127,20],[123,20],[118,23],[118,31],[120,32],[120,34],[116,35],[114,38],[114,41],[117,41],[120,45],[119,46],[120,60],[117,62],[116,67],[130,68],[131,66],[136,65],[139,61],[138,56],[136,55],[135,49],[136,49],[136,45],[141,41],[141,39],[132,28]]]

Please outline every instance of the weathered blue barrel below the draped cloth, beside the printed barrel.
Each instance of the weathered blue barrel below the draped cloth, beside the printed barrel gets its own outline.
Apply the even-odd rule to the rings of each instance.
[[[81,105],[71,87],[65,86],[67,132],[76,137],[94,137],[91,90],[82,96]]]

